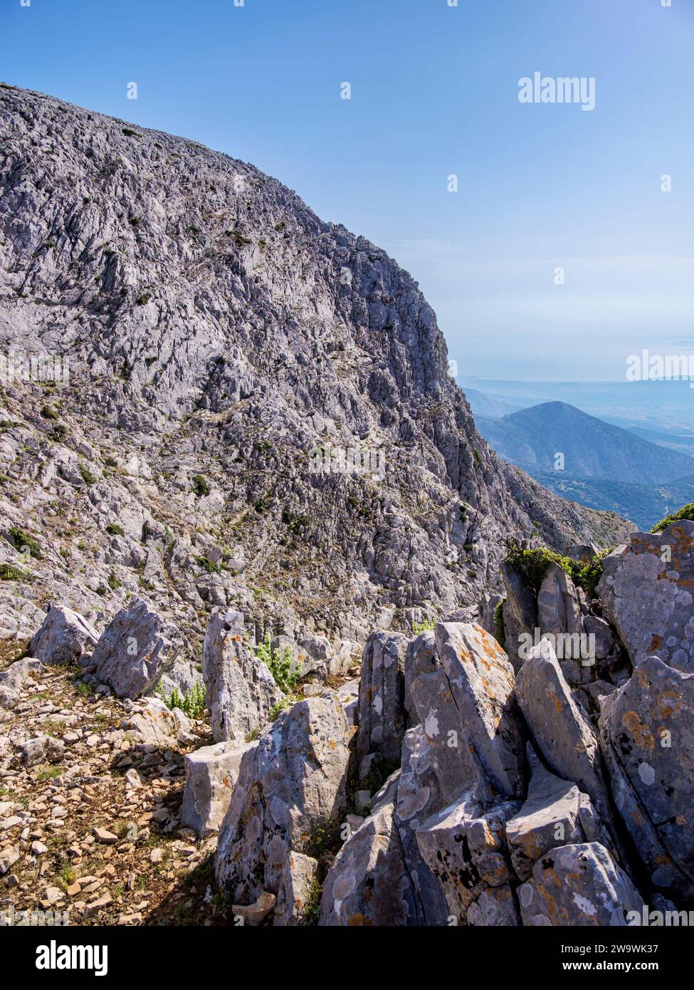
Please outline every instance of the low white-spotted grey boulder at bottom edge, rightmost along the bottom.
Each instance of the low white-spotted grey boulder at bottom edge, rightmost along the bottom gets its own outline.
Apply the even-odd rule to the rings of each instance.
[[[560,845],[536,863],[519,887],[527,926],[627,926],[644,898],[599,842]]]

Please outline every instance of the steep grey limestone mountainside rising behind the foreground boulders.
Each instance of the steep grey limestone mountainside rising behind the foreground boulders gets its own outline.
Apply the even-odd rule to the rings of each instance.
[[[362,639],[473,607],[507,536],[625,535],[489,450],[378,247],[251,165],[3,86],[10,350],[69,380],[3,388],[1,559],[22,573],[0,635],[50,599],[98,623],[138,592],[192,639],[214,605]]]

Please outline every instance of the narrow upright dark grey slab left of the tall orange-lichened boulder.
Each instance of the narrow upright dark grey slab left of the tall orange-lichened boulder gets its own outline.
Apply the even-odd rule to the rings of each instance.
[[[373,633],[364,645],[359,682],[356,758],[378,753],[387,764],[400,762],[405,735],[405,652],[401,633]]]

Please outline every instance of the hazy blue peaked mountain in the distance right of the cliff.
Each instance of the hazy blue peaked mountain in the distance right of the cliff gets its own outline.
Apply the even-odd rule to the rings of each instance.
[[[501,419],[480,416],[476,421],[490,446],[536,477],[545,471],[561,476],[558,454],[563,455],[563,472],[572,478],[649,486],[694,473],[694,458],[687,454],[651,444],[565,402],[544,402]]]

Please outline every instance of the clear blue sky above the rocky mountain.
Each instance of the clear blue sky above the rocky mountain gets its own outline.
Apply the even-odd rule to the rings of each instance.
[[[0,76],[277,176],[412,272],[461,373],[690,351],[694,0],[447,4],[2,0]],[[595,110],[521,104],[535,71],[594,76]]]

